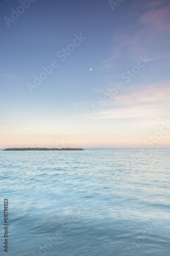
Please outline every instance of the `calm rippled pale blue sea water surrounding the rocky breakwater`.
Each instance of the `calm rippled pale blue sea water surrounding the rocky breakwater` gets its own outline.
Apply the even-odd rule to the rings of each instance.
[[[138,151],[0,150],[2,255],[169,255],[169,150]]]

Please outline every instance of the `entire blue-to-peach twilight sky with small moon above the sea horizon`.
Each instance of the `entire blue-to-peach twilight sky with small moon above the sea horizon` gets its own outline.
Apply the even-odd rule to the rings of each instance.
[[[169,147],[169,0],[2,0],[0,148]]]

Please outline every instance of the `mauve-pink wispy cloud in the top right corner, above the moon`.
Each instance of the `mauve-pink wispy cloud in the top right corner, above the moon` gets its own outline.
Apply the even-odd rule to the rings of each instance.
[[[121,57],[135,61],[142,53],[149,54],[153,60],[167,56],[164,54],[164,49],[161,50],[162,52],[156,49],[162,44],[169,44],[170,7],[168,2],[136,1],[129,15],[135,15],[136,22],[127,20],[126,25],[120,26],[114,32],[111,56],[103,61],[104,69],[115,67],[117,59]]]

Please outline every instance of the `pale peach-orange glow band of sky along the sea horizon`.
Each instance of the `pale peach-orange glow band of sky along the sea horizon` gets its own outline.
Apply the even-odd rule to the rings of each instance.
[[[100,140],[99,140],[100,138]],[[156,137],[157,138],[157,137]],[[6,147],[108,147],[108,148],[131,148],[131,147],[169,147],[169,138],[165,134],[161,139],[152,139],[150,136],[145,138],[138,138],[137,136],[126,135],[68,135],[65,138],[63,136],[52,135],[35,135],[35,136],[17,136],[8,137],[8,139],[2,139],[0,148]],[[146,141],[144,143],[144,141]],[[154,142],[152,142],[154,141]],[[35,146],[36,145],[36,146]]]

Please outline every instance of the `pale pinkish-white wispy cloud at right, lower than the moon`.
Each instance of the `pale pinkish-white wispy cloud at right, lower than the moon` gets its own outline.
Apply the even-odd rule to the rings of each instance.
[[[137,122],[144,118],[149,120],[163,120],[169,116],[170,88],[168,82],[135,86],[122,91],[108,102],[107,108],[97,114],[87,113],[81,119],[129,119],[137,118]],[[153,122],[154,124],[154,122]]]

